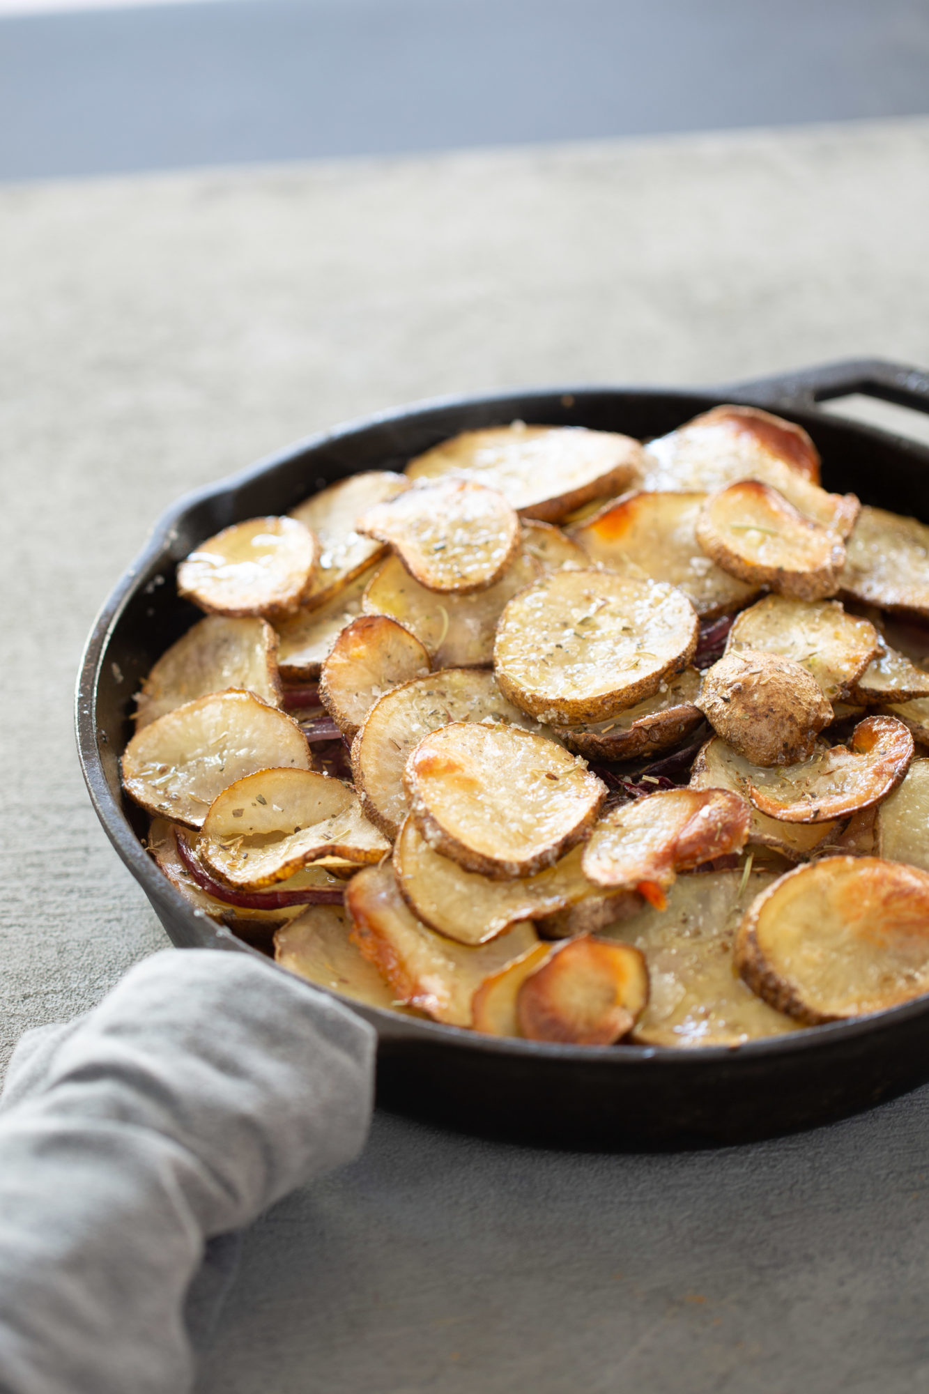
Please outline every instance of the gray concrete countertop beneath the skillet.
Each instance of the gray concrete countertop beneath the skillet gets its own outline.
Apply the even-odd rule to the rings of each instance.
[[[441,392],[929,362],[929,121],[0,191],[1,1047],[163,942],[71,735],[181,491]],[[929,1092],[718,1153],[379,1117],[248,1235],[201,1394],[925,1390]]]

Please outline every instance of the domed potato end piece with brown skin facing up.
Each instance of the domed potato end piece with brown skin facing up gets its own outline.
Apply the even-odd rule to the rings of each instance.
[[[755,765],[809,760],[833,708],[792,658],[743,648],[703,675],[696,704],[713,729]]]

